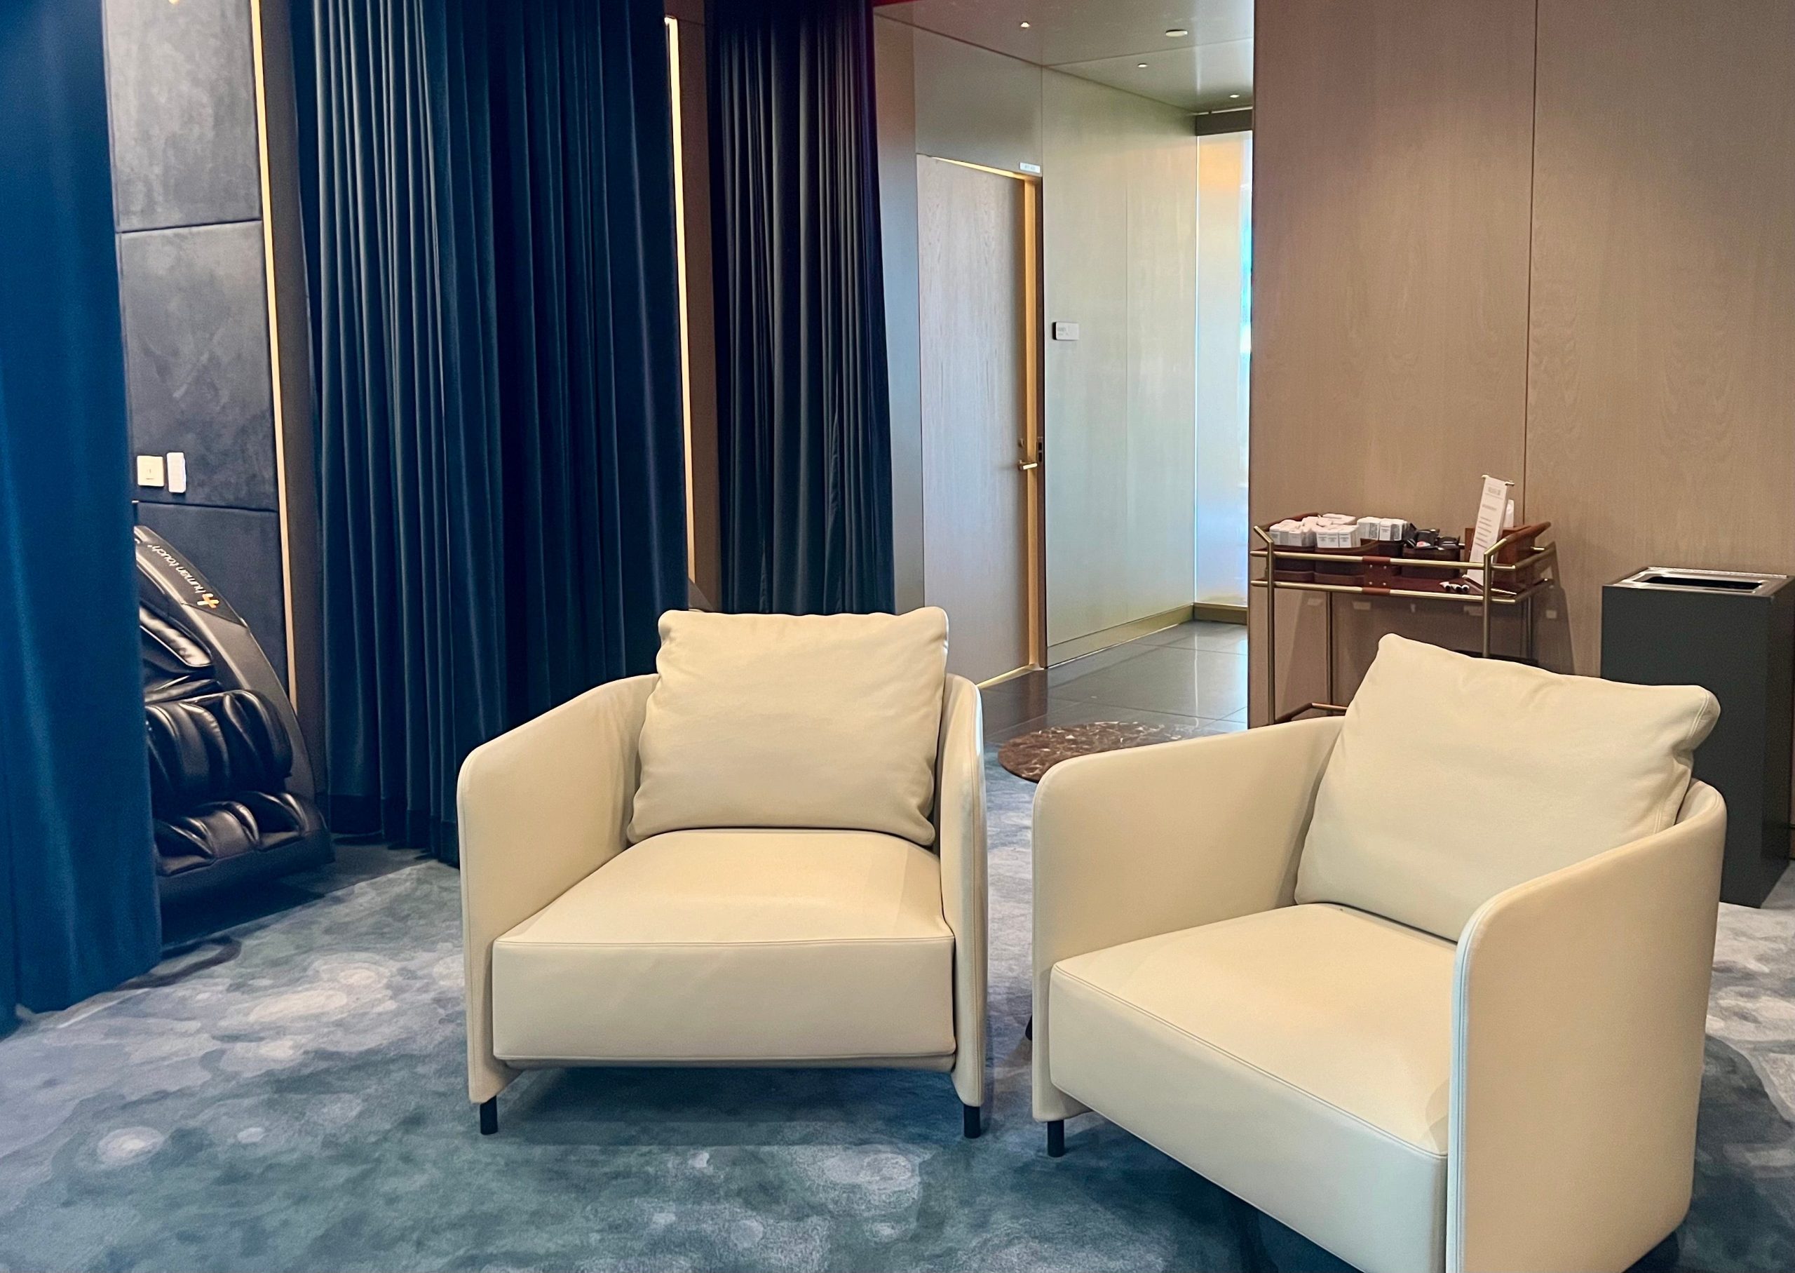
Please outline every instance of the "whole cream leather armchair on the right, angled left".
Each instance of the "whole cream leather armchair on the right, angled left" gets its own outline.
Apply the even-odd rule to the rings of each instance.
[[[1095,1110],[1364,1273],[1624,1269],[1691,1194],[1725,806],[1687,763],[1712,700],[1386,666],[1389,641],[1357,720],[1041,781],[1034,1117],[1057,1156]],[[1459,691],[1470,713],[1414,702]],[[1621,756],[1653,729],[1664,763]],[[1436,770],[1391,768],[1404,733]],[[1644,821],[1562,799],[1598,777]]]

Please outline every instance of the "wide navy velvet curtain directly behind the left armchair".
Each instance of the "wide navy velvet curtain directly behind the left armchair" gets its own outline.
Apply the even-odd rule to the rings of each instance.
[[[662,11],[294,13],[332,806],[452,858],[467,752],[684,605]]]

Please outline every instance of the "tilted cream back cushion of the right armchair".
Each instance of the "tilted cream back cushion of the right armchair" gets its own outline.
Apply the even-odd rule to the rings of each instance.
[[[1296,900],[1458,941],[1497,892],[1671,826],[1718,716],[1700,686],[1386,636],[1321,776]]]

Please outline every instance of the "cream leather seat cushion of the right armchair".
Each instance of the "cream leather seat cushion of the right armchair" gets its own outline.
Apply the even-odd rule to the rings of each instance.
[[[1303,905],[1064,959],[1052,1083],[1366,1273],[1440,1269],[1454,952]]]

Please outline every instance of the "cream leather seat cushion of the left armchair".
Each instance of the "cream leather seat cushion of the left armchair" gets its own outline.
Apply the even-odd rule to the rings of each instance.
[[[494,1054],[519,1063],[944,1058],[941,867],[872,831],[670,831],[492,948]]]

